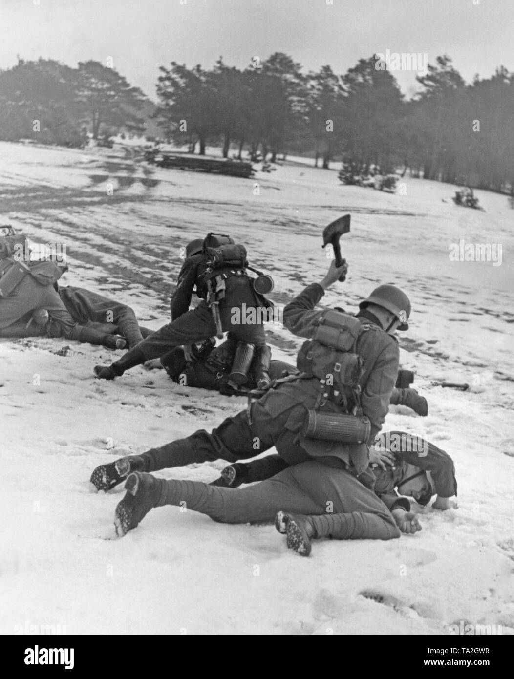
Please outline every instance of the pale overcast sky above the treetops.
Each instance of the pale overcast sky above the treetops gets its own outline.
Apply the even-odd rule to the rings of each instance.
[[[447,53],[468,81],[499,65],[514,71],[514,0],[0,0],[0,69],[17,55],[73,67],[112,57],[151,98],[172,60],[210,67],[222,55],[246,67],[280,51],[344,73],[386,50],[429,62]],[[416,73],[394,75],[414,91]]]

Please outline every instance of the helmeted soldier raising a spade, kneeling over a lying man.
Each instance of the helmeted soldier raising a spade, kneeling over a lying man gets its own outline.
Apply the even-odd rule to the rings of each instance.
[[[198,430],[139,456],[98,466],[91,477],[96,488],[109,490],[134,471],[219,458],[237,462],[273,446],[287,464],[316,458],[373,488],[368,449],[385,420],[399,369],[399,349],[392,333],[408,328],[411,305],[399,289],[380,286],[361,302],[356,316],[314,311],[325,289],[347,269],[346,262],[337,268],[333,261],[320,283],[309,285],[284,309],[286,327],[297,335],[314,337],[299,352],[299,375],[274,382],[249,412],[227,418],[211,434]],[[323,344],[322,339],[339,350]],[[323,414],[329,420],[335,418],[339,428],[332,439],[305,430],[312,414],[319,421]],[[341,427],[352,432],[348,442],[342,441]]]

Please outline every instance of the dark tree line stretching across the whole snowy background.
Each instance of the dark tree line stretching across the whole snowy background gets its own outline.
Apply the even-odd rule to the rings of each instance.
[[[246,69],[222,58],[211,69],[171,62],[160,68],[154,107],[98,62],[71,69],[20,61],[0,71],[0,139],[79,145],[88,130],[94,139],[121,128],[142,132],[151,105],[162,138],[191,153],[209,144],[240,160],[309,155],[325,168],[341,158],[363,174],[409,168],[426,179],[513,191],[514,73],[499,67],[466,83],[443,55],[416,79],[420,91],[407,100],[374,55],[344,75],[329,65],[305,72],[282,52]],[[35,112],[44,134],[32,131]]]

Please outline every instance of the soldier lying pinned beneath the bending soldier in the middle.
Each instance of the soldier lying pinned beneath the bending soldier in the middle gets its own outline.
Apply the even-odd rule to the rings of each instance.
[[[244,396],[250,390],[259,388],[261,362],[255,365],[251,351],[244,356],[250,360],[242,365],[241,345],[228,334],[223,344],[214,346],[213,339],[207,339],[191,347],[188,359],[183,347],[176,347],[160,359],[160,364],[170,378],[183,386],[203,389],[216,389],[227,396]],[[251,348],[251,346],[250,346]],[[270,380],[279,380],[287,375],[297,375],[299,370],[291,363],[271,360],[271,350],[266,346],[267,361],[265,368]],[[234,382],[234,378],[238,382]],[[399,370],[397,381],[390,396],[390,405],[405,405],[422,417],[428,415],[428,403],[415,389],[409,387],[414,381],[414,373]],[[280,471],[280,470],[279,470]]]

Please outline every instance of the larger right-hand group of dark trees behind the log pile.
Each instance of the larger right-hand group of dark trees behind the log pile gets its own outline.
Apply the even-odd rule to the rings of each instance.
[[[327,168],[337,157],[364,175],[410,168],[426,179],[513,189],[514,73],[500,67],[466,84],[438,56],[406,100],[383,66],[371,56],[344,75],[329,65],[304,73],[281,52],[242,71],[221,58],[209,71],[172,62],[160,69],[156,115],[166,136],[191,152],[219,143],[227,157],[232,143],[238,158],[243,149],[271,162],[313,155]]]

